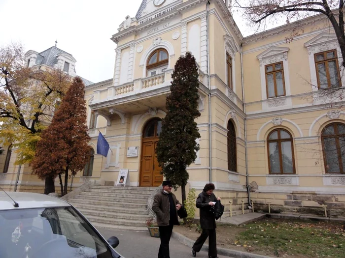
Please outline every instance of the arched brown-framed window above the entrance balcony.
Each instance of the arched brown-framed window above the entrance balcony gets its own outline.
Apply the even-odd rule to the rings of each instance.
[[[167,70],[169,63],[168,57],[168,51],[163,48],[153,51],[146,63],[147,76],[154,76]]]

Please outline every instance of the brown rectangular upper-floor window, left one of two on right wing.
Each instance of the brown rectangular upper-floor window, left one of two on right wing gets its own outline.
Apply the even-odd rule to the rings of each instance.
[[[283,62],[265,66],[267,98],[285,96]]]

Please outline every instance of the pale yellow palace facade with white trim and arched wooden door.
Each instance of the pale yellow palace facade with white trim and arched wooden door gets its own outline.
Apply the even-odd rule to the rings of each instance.
[[[345,85],[332,28],[314,16],[243,37],[227,5],[143,0],[136,17],[126,17],[111,37],[113,78],[86,86],[94,151],[73,186],[114,185],[120,169],[129,170],[131,186],[161,184],[155,146],[174,64],[190,51],[200,75],[201,138],[187,191],[212,182],[235,211],[250,200],[256,210],[270,203],[277,212],[322,213],[327,205],[345,214],[343,95],[322,90]],[[296,24],[303,32],[290,41]],[[107,157],[95,154],[99,132]]]

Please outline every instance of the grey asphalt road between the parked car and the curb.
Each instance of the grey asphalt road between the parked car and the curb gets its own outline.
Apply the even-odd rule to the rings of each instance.
[[[160,239],[151,237],[146,231],[115,231],[108,229],[98,229],[105,239],[116,236],[120,244],[115,248],[125,258],[157,258]],[[206,240],[208,243],[208,240]],[[171,258],[193,258],[191,249],[179,243],[175,239],[170,240]],[[218,256],[225,258],[224,256]],[[208,258],[207,252],[200,252],[197,258]]]

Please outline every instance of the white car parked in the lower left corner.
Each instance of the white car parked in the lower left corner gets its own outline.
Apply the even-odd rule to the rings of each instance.
[[[0,258],[120,258],[67,201],[0,190]]]

